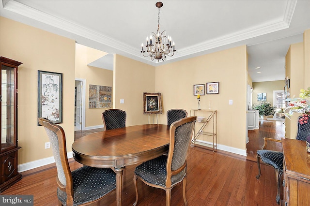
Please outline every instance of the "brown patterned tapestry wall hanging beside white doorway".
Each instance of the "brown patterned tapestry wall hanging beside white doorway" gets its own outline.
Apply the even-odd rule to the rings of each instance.
[[[89,108],[111,108],[112,87],[89,85]]]

